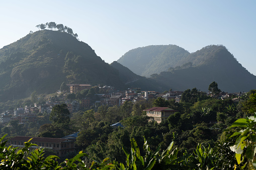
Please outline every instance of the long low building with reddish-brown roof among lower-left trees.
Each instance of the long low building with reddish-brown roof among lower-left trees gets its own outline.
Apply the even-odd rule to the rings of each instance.
[[[68,152],[74,151],[74,140],[66,138],[49,138],[49,137],[28,137],[16,136],[10,139],[10,145],[14,147],[24,147],[24,142],[31,139],[30,142],[38,146],[31,146],[32,148],[45,147],[52,149],[58,156],[66,156]]]

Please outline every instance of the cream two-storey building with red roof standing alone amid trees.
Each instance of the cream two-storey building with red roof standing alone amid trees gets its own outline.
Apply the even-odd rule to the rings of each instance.
[[[145,109],[143,111],[146,111],[146,114],[150,120],[154,120],[157,123],[162,122],[163,120],[166,120],[169,115],[174,114],[175,112],[177,112],[177,110],[168,108],[168,107],[152,107],[149,109]]]

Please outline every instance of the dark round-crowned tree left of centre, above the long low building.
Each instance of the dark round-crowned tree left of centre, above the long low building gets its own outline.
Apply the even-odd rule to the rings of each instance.
[[[67,109],[66,104],[57,104],[52,108],[52,111],[50,113],[50,121],[53,123],[69,123],[70,112]]]

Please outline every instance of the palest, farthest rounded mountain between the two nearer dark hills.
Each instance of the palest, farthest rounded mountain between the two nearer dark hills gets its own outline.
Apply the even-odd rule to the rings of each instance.
[[[188,55],[188,51],[176,45],[157,45],[130,50],[117,62],[135,74],[150,77],[151,74],[187,63],[185,59]]]

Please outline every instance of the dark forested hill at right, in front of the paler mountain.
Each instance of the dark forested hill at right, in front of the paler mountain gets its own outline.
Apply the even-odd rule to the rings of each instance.
[[[207,46],[190,54],[189,63],[154,75],[154,79],[173,89],[184,90],[197,87],[207,91],[216,81],[222,91],[249,91],[256,86],[256,76],[239,64],[224,46]]]

